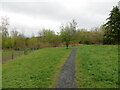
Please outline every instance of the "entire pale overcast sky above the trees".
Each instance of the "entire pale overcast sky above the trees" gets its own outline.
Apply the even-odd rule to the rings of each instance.
[[[17,1],[17,2],[16,2]],[[59,32],[59,27],[75,19],[78,28],[91,29],[105,23],[119,0],[1,0],[0,17],[9,17],[9,31],[31,36],[42,28]]]

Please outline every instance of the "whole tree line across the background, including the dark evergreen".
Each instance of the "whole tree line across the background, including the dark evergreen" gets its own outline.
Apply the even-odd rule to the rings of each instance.
[[[3,49],[25,49],[57,47],[69,44],[119,44],[120,40],[120,10],[113,7],[107,23],[91,30],[77,28],[77,22],[72,20],[65,26],[60,27],[60,33],[53,30],[42,29],[38,36],[26,37],[14,28],[8,32],[9,18],[2,17],[0,30],[2,32]]]

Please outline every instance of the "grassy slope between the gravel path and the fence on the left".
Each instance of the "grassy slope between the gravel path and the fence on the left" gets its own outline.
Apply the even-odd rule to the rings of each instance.
[[[45,48],[3,64],[3,88],[53,87],[71,49]]]

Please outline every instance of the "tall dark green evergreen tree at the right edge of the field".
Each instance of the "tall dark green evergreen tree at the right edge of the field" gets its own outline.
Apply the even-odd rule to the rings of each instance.
[[[105,44],[118,44],[120,38],[120,10],[119,8],[113,7],[110,17],[107,19],[104,34]]]

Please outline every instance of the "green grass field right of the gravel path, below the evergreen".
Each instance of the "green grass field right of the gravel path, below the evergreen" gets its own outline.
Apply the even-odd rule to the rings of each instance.
[[[76,71],[76,83],[80,88],[117,88],[117,46],[79,46],[76,55]]]

